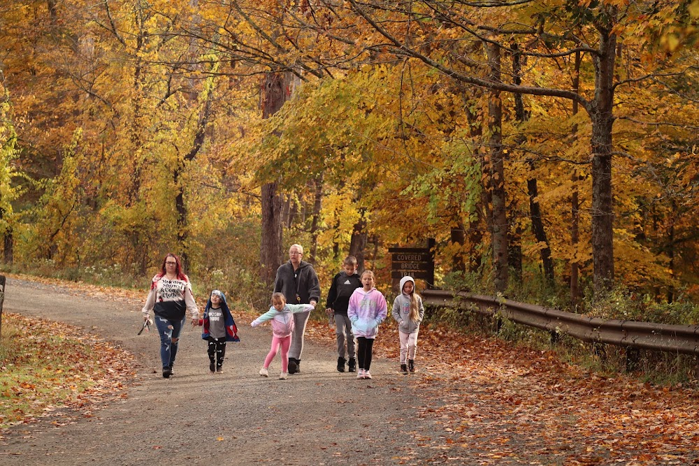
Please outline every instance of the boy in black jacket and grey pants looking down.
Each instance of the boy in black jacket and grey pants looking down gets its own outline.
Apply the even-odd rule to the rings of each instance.
[[[325,312],[335,317],[335,333],[338,340],[338,372],[345,372],[345,363],[349,365],[349,372],[356,370],[354,358],[354,334],[352,323],[347,317],[349,297],[355,289],[361,288],[359,274],[356,273],[356,258],[347,256],[343,262],[343,271],[333,277],[333,284],[328,292]],[[345,342],[347,351],[345,352]],[[349,357],[349,361],[345,356]]]

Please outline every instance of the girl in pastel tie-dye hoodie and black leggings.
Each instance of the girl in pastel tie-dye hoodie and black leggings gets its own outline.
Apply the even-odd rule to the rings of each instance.
[[[349,297],[347,316],[352,322],[352,332],[356,336],[356,359],[359,370],[357,379],[370,379],[371,351],[379,324],[386,319],[386,298],[374,288],[374,272],[364,270],[361,273],[361,288],[354,290]]]

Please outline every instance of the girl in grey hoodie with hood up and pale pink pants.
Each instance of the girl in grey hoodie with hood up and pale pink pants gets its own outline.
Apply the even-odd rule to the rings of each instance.
[[[398,322],[398,335],[401,335],[401,374],[408,374],[408,370],[415,372],[417,334],[425,308],[422,299],[415,293],[415,280],[412,277],[401,278],[401,294],[394,300],[391,315]]]

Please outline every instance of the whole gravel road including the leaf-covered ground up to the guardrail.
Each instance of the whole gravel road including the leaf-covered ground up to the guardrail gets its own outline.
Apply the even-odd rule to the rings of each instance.
[[[11,429],[0,465],[699,464],[699,395],[681,384],[602,376],[440,328],[421,333],[420,372],[408,377],[378,357],[371,381],[340,374],[333,344],[307,338],[302,374],[264,379],[270,330],[240,318],[224,374],[208,372],[199,329],[187,328],[175,377],[163,379],[157,334],[136,336],[142,305],[8,280],[8,312],[101,335],[134,354],[136,375],[92,417],[66,409]],[[394,330],[382,330],[392,349]]]

